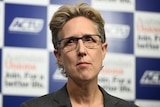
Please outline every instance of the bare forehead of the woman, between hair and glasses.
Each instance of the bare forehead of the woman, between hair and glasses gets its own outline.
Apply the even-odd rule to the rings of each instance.
[[[61,29],[62,38],[70,36],[82,36],[84,34],[97,34],[96,24],[83,16],[70,19]]]

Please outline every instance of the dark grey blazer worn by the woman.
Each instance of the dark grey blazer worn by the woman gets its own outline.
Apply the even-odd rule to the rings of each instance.
[[[104,96],[104,107],[138,107],[128,101],[111,96],[102,87],[100,90]],[[60,90],[31,99],[22,103],[21,107],[72,107],[66,85]]]

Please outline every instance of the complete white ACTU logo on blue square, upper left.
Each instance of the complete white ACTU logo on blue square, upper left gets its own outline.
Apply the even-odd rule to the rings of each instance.
[[[15,17],[8,30],[10,32],[39,33],[43,25],[43,19]]]

